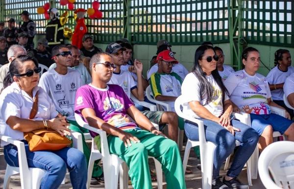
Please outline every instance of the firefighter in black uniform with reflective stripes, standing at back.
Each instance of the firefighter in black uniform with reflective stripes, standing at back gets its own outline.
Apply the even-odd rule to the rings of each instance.
[[[63,26],[58,19],[58,10],[50,8],[48,11],[51,21],[46,26],[46,39],[50,50],[56,45],[64,44]]]

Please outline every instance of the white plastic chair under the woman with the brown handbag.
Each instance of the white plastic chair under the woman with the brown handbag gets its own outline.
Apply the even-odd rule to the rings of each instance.
[[[72,138],[73,147],[83,152],[82,135],[73,132]],[[19,167],[10,166],[7,164],[3,189],[8,189],[10,177],[15,174],[20,174],[22,189],[40,189],[40,184],[46,171],[40,168],[28,167],[25,153],[25,143],[1,134],[0,139],[10,144],[14,144],[17,147],[19,160]]]

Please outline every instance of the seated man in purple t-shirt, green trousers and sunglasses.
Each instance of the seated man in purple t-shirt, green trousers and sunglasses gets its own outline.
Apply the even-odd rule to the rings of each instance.
[[[90,126],[109,134],[109,152],[127,163],[133,188],[152,188],[147,159],[153,156],[162,164],[167,187],[186,189],[176,143],[156,130],[147,117],[133,106],[123,88],[107,84],[115,69],[111,55],[95,54],[90,68],[92,82],[77,90],[75,113],[83,116]],[[131,122],[131,118],[136,123]],[[98,134],[92,132],[91,135],[95,137]],[[111,178],[104,179],[111,182]]]

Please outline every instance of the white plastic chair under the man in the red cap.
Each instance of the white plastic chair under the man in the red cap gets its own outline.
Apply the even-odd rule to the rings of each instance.
[[[150,85],[147,86],[147,88],[146,88],[146,97],[150,102],[156,104],[158,111],[164,111],[163,107],[165,107],[167,109],[167,111],[172,111],[172,108],[168,103],[158,101],[153,98]],[[182,149],[183,149],[183,139],[184,139],[184,130],[179,129],[177,144],[178,144],[178,148],[180,151],[182,151]]]

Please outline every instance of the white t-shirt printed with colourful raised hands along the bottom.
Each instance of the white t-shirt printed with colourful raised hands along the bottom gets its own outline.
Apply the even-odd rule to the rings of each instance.
[[[248,75],[245,70],[231,74],[224,82],[231,95],[231,101],[242,111],[254,114],[270,114],[268,98],[270,86],[261,74]]]

